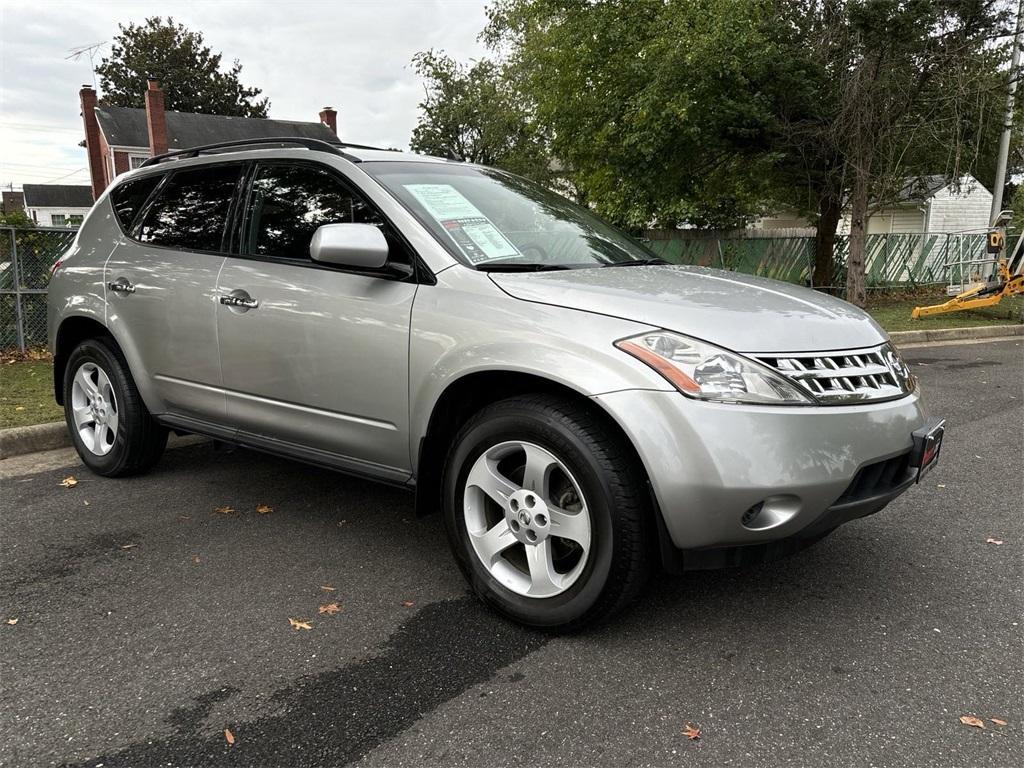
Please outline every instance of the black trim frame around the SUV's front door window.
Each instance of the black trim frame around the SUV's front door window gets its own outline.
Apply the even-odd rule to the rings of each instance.
[[[259,160],[253,160],[250,162],[252,167],[249,169],[249,172],[245,174],[246,188],[243,190],[242,196],[240,196],[240,201],[244,200],[244,204],[237,206],[237,216],[230,224],[232,251],[228,255],[231,256],[231,258],[246,259],[249,261],[262,261],[271,264],[285,264],[288,266],[299,266],[306,269],[323,269],[332,272],[344,272],[346,274],[358,274],[367,278],[380,278],[382,280],[393,280],[404,283],[418,283],[421,285],[432,286],[437,284],[437,279],[434,276],[434,273],[423,261],[416,249],[413,248],[413,245],[409,242],[409,239],[404,236],[401,229],[394,225],[387,214],[385,214],[384,211],[382,211],[380,207],[366,195],[366,193],[352,183],[350,179],[346,178],[344,174],[339,173],[338,169],[328,165],[327,163],[318,162],[312,159],[307,160],[305,158],[260,158]],[[246,253],[250,247],[250,245],[245,242],[245,231],[249,220],[249,201],[253,193],[253,182],[255,181],[256,173],[259,168],[274,165],[307,166],[326,171],[336,181],[338,181],[346,191],[353,197],[359,198],[380,217],[380,219],[384,222],[384,225],[387,227],[388,232],[402,244],[406,252],[410,255],[413,262],[412,271],[406,272],[402,269],[394,267],[390,270],[387,268],[357,269],[354,267],[340,266],[338,264],[325,264],[318,261],[313,261],[310,258],[296,259],[283,256],[262,256],[255,253]]]

